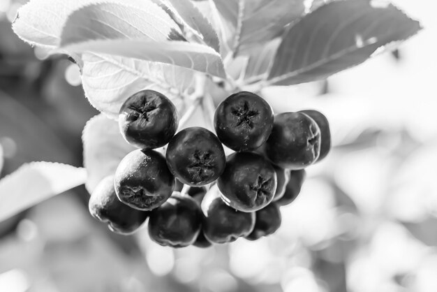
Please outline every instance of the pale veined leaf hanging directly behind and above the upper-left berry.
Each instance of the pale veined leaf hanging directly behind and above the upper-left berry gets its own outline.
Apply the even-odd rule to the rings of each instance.
[[[183,97],[194,90],[194,71],[108,54],[83,54],[82,85],[89,102],[112,119],[117,119],[126,98],[142,89],[165,94],[179,112]]]

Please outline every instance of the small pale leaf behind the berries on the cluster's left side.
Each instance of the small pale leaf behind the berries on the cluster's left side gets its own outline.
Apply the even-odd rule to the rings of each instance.
[[[135,149],[121,136],[118,123],[104,115],[96,115],[87,122],[82,143],[88,175],[85,187],[90,194],[103,177],[114,174],[121,159]]]

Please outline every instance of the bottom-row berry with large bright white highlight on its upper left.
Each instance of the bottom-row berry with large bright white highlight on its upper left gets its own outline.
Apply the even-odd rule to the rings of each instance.
[[[209,242],[233,242],[249,235],[255,226],[255,212],[239,212],[226,205],[214,185],[202,200],[203,233]]]

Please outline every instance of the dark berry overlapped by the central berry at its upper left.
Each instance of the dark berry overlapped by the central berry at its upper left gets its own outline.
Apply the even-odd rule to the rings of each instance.
[[[254,212],[272,202],[276,173],[263,156],[235,152],[228,156],[223,174],[217,180],[223,201],[236,210]]]

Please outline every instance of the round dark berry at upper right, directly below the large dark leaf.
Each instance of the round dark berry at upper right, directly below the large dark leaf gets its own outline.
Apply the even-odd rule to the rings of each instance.
[[[221,143],[235,151],[260,147],[269,138],[273,111],[269,103],[251,92],[238,92],[222,101],[214,114]]]

